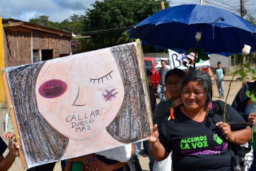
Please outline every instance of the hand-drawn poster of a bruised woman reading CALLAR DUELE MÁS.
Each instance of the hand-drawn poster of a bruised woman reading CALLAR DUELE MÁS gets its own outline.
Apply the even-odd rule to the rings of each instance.
[[[132,42],[5,68],[28,168],[150,137],[140,50]]]

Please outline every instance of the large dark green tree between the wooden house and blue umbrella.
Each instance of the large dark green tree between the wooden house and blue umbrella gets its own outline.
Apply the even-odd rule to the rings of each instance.
[[[164,5],[169,6],[167,1]],[[83,41],[83,50],[126,43],[129,39],[127,30],[159,10],[161,1],[155,0],[96,1],[83,18],[83,35],[91,36],[90,43]]]

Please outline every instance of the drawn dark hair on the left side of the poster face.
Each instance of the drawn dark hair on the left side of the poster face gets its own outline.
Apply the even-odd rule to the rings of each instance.
[[[44,63],[6,69],[28,168],[45,164],[46,159],[59,161],[69,142],[69,138],[53,129],[38,111],[35,85]]]

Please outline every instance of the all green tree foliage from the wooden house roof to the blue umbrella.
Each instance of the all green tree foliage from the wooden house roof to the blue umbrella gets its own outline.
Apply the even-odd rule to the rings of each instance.
[[[73,14],[61,23],[49,21],[46,15],[31,19],[30,23],[90,36],[90,39],[80,39],[80,51],[101,49],[129,42],[127,30],[161,10],[161,1],[104,0],[95,1],[91,6],[92,9],[85,11],[85,15]],[[164,6],[169,7],[168,1],[164,0]],[[157,50],[146,46],[145,51]]]

